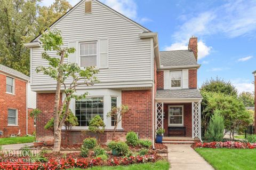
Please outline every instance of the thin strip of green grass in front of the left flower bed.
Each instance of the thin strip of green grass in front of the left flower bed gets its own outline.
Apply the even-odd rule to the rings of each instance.
[[[168,170],[169,162],[166,160],[159,160],[156,163],[145,163],[145,164],[133,164],[128,166],[95,166],[89,168],[89,170]],[[71,170],[71,169],[69,169]],[[80,168],[74,168],[72,170],[81,170]]]

